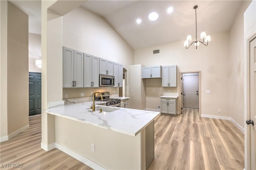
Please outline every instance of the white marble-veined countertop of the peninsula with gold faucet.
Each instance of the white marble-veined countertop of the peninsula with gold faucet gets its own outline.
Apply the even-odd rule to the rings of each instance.
[[[118,110],[104,112],[104,107],[109,108],[108,106],[95,105],[96,107],[102,107],[102,113],[99,113],[99,111],[93,112],[90,109],[91,105],[92,101],[74,103],[47,109],[45,112],[131,136],[136,136],[160,115],[160,112],[121,107],[111,107]]]

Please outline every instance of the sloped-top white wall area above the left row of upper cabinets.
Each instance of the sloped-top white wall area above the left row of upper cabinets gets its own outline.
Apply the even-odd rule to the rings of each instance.
[[[63,46],[121,63],[134,64],[134,50],[106,22],[82,7],[63,16]]]

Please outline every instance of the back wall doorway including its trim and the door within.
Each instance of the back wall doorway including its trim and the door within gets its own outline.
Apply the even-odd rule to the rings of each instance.
[[[197,109],[201,116],[201,71],[181,73],[181,113],[183,109]]]

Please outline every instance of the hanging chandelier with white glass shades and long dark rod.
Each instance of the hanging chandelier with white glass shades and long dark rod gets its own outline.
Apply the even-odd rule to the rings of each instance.
[[[194,6],[195,11],[196,11],[197,7],[198,7],[197,5]],[[211,36],[207,36],[207,34],[205,32],[201,32],[201,39],[203,40],[203,42],[200,41],[200,40],[197,40],[197,25],[196,25],[196,41],[191,42],[192,41],[192,36],[188,35],[187,40],[184,42],[184,46],[186,46],[186,49],[188,49],[193,43],[195,44],[196,49],[197,49],[197,46],[200,45],[200,43],[207,46],[208,42],[211,41]]]

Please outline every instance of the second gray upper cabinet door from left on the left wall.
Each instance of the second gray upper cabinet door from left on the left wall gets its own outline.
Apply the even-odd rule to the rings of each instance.
[[[74,87],[84,87],[84,53],[74,50]]]

